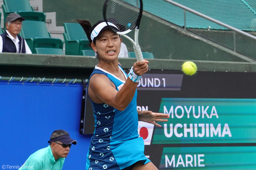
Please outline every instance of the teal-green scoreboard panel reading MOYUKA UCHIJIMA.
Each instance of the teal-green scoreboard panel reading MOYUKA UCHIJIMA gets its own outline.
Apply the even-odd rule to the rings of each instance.
[[[168,122],[155,127],[152,144],[251,143],[256,139],[256,99],[162,98]]]

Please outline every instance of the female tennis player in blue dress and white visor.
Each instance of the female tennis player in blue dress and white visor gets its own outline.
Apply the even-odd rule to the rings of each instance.
[[[99,59],[88,84],[95,118],[94,136],[87,153],[86,169],[157,170],[144,155],[144,142],[138,135],[138,120],[153,123],[167,121],[168,114],[137,111],[136,87],[147,72],[149,61],[137,61],[129,76],[118,62],[120,35],[99,21],[93,27],[78,20]],[[118,30],[114,24],[112,28]]]

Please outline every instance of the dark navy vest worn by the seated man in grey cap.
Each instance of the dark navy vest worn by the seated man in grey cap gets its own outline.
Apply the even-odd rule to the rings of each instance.
[[[11,38],[7,37],[7,32],[5,31],[4,34],[1,34],[3,38],[3,51],[2,52],[10,52],[10,53],[16,53],[16,46],[14,42],[11,40]],[[19,38],[19,52],[26,53],[25,48],[25,41],[24,38],[22,38],[22,50],[21,50],[21,36],[18,35]]]

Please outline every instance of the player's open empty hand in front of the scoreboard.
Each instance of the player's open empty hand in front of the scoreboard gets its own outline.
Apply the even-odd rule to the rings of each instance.
[[[161,127],[160,124],[156,123],[155,121],[159,122],[167,122],[166,118],[170,118],[168,114],[164,113],[154,113],[152,111],[138,111],[139,121],[152,123],[158,127]]]

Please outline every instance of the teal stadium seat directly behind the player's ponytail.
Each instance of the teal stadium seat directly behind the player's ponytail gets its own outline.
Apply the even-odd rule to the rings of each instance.
[[[66,55],[83,55],[82,50],[91,49],[89,40],[79,23],[63,23]]]

